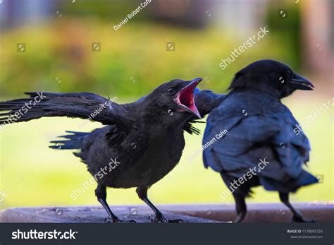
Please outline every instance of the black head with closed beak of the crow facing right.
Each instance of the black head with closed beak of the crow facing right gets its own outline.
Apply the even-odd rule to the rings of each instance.
[[[313,90],[314,85],[294,73],[289,66],[269,59],[255,61],[235,74],[232,90],[259,90],[278,97],[291,95],[295,90]]]

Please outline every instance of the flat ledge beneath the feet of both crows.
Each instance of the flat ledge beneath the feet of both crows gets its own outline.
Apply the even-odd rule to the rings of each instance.
[[[334,222],[334,203],[292,203],[304,217],[318,222]],[[235,220],[234,204],[157,205],[168,219],[185,222],[230,222]],[[282,203],[249,203],[245,222],[290,222],[292,214]],[[121,220],[149,222],[153,212],[147,205],[112,206]],[[100,206],[8,208],[0,212],[0,222],[105,222]]]

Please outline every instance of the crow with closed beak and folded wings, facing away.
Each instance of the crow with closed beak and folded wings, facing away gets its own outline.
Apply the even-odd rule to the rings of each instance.
[[[318,181],[302,168],[309,161],[309,141],[296,130],[298,122],[280,100],[296,89],[312,88],[309,80],[285,64],[261,60],[237,72],[228,95],[218,107],[211,108],[203,145],[212,144],[204,150],[204,166],[220,172],[229,188],[227,193],[233,194],[236,222],[247,213],[245,197],[259,185],[278,191],[295,222],[311,221],[289,202],[290,192]]]

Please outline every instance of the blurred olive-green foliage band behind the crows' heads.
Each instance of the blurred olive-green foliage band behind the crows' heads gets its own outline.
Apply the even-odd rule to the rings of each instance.
[[[187,29],[134,22],[114,31],[111,23],[62,17],[1,35],[0,95],[89,89],[105,96],[133,97],[174,78],[195,77],[211,81],[201,88],[223,92],[235,71],[256,59],[287,64],[295,60],[290,52],[293,47],[280,44],[283,37],[273,32],[222,71],[221,59],[247,39],[248,35],[237,38],[233,30],[214,27]],[[92,52],[92,42],[101,43],[101,52]],[[174,52],[166,51],[166,42],[175,42]],[[26,52],[17,52],[17,43],[25,43]]]

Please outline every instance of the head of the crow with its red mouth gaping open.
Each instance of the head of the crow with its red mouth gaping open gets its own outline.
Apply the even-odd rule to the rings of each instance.
[[[168,116],[171,119],[188,118],[201,115],[194,103],[194,89],[202,78],[192,80],[171,80],[153,90],[143,102],[149,103],[149,108],[155,114]],[[158,113],[159,112],[159,113]]]

